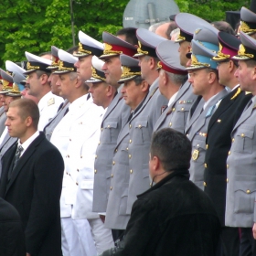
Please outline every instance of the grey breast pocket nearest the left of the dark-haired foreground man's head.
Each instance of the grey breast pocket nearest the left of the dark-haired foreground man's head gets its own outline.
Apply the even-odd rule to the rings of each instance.
[[[136,121],[133,142],[134,144],[146,144],[150,143],[151,135],[149,135],[148,131],[148,121],[140,120]]]

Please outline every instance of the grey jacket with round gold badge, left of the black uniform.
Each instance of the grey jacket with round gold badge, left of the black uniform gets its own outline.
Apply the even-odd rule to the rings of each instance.
[[[190,180],[193,181],[197,187],[204,189],[204,162],[206,155],[206,138],[208,132],[208,123],[217,108],[219,100],[225,97],[228,91],[223,89],[219,91],[212,99],[209,99],[208,105],[203,110],[205,101],[201,101],[197,105],[197,109],[191,116],[190,113],[187,119],[185,133],[187,138],[192,143],[192,158],[190,161]]]

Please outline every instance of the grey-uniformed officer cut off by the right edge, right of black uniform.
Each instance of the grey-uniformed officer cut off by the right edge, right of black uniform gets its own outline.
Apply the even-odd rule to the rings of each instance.
[[[242,235],[247,236],[251,241],[250,255],[256,255],[254,240],[256,239],[254,168],[256,40],[243,32],[240,32],[240,40],[238,55],[232,58],[239,60],[239,69],[235,72],[235,76],[240,81],[241,90],[251,91],[253,97],[231,132],[232,144],[227,159],[225,225],[240,228]]]

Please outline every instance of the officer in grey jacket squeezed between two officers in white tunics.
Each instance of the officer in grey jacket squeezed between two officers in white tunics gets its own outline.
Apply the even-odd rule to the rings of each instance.
[[[59,48],[52,46],[51,47],[51,65],[48,66],[47,69],[51,71],[51,74],[48,77],[48,82],[50,83],[51,92],[57,96],[59,95],[59,88],[56,84],[59,76],[58,74],[54,74],[54,71],[59,69],[59,56],[58,56]],[[60,96],[61,97],[61,96]],[[69,101],[64,99],[64,101],[60,104],[59,110],[56,115],[46,124],[44,127],[44,133],[46,134],[46,138],[50,141],[51,134],[53,133],[55,127],[66,114],[69,108]]]

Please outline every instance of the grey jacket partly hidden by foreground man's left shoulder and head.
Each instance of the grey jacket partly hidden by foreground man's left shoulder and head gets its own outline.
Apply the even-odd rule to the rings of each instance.
[[[158,90],[158,79],[151,85],[147,98],[141,109],[133,115],[129,122],[130,140],[128,147],[130,179],[126,213],[131,214],[136,196],[147,190],[149,186],[149,148],[153,128],[162,113],[167,100]]]

